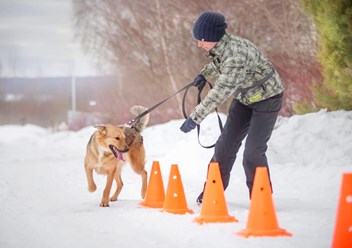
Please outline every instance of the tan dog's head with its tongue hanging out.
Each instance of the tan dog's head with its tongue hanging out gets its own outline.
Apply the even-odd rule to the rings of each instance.
[[[99,125],[97,128],[97,139],[104,148],[109,148],[114,156],[123,160],[122,153],[128,152],[125,134],[122,127],[116,125]]]

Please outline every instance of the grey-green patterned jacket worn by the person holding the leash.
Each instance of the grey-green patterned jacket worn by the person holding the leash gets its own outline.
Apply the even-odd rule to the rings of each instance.
[[[230,96],[250,105],[284,91],[278,73],[264,84],[253,84],[270,74],[273,65],[250,41],[225,33],[213,49],[206,53],[211,59],[201,74],[207,79],[217,77],[213,89],[198,104],[190,117],[200,124],[204,118]]]

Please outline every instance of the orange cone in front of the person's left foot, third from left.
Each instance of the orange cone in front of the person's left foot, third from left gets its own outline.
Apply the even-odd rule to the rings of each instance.
[[[195,221],[202,224],[205,222],[235,222],[234,216],[227,211],[224,186],[222,184],[218,163],[210,163],[207,183],[205,184],[202,208],[200,216]]]

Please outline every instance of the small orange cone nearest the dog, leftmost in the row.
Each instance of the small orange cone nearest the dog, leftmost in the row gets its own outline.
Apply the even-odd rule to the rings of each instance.
[[[158,161],[153,161],[149,177],[149,184],[144,201],[139,205],[149,208],[162,208],[165,200],[164,183]]]

